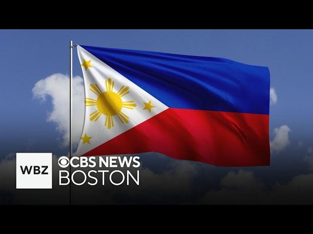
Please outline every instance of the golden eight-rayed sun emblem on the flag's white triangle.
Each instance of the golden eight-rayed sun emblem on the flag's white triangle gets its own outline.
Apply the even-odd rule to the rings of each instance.
[[[104,125],[111,129],[114,127],[113,116],[117,116],[121,123],[129,123],[129,117],[121,112],[122,108],[134,109],[137,105],[134,101],[123,101],[122,97],[129,93],[129,86],[122,86],[117,93],[113,92],[114,81],[111,78],[105,81],[107,91],[102,92],[97,84],[90,84],[90,90],[98,98],[86,98],[86,106],[97,106],[97,110],[92,112],[90,121],[97,121],[103,114],[106,116]]]

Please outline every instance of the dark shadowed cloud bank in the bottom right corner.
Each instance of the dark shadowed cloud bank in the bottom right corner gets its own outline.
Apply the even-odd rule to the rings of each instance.
[[[227,181],[227,182],[226,182]],[[313,204],[313,174],[293,177],[284,184],[266,188],[252,172],[230,172],[221,180],[220,190],[209,190],[203,204]]]

